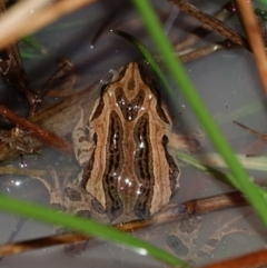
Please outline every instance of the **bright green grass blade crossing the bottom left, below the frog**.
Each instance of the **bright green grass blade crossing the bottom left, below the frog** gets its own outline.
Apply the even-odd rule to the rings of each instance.
[[[65,226],[67,229],[72,229],[86,235],[92,235],[113,242],[119,242],[134,248],[135,251],[141,255],[150,255],[166,264],[189,268],[189,266],[172,255],[148,242],[85,218],[75,217],[70,214],[56,211],[44,206],[34,205],[7,196],[0,196],[0,209],[51,225]]]

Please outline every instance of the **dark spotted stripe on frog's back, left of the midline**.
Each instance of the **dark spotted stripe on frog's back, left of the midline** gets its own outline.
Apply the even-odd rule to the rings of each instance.
[[[113,221],[123,211],[123,204],[118,193],[118,177],[121,175],[125,161],[122,148],[123,129],[116,111],[110,112],[108,129],[106,169],[102,180],[107,214],[110,221]]]

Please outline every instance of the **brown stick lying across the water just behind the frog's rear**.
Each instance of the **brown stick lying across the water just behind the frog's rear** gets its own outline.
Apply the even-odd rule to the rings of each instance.
[[[181,205],[172,204],[167,206],[162,211],[156,214],[148,220],[135,220],[126,224],[115,225],[112,227],[125,232],[132,232],[145,227],[186,219],[190,216],[244,206],[248,206],[248,202],[244,198],[243,193],[234,191],[214,197],[194,199]],[[19,254],[27,250],[39,249],[42,247],[78,242],[92,238],[93,237],[80,234],[55,235],[44,238],[37,238],[28,241],[2,245],[0,246],[0,256]]]

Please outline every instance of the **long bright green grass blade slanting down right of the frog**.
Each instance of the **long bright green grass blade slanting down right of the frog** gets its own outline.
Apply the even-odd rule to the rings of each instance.
[[[238,189],[247,196],[249,202],[254,206],[255,210],[267,226],[267,215],[265,212],[266,195],[260,195],[257,187],[249,181],[247,172],[243,169],[226,138],[222,136],[202,100],[198,97],[197,90],[190,81],[181,62],[179,59],[174,57],[174,49],[162,30],[162,26],[156,16],[150,1],[132,0],[132,2],[139,11],[144,23],[158,47],[159,52],[162,54],[165,63],[169,68],[176,85],[180,88],[196,117],[214,142],[216,149],[227,162],[235,180],[238,181]]]

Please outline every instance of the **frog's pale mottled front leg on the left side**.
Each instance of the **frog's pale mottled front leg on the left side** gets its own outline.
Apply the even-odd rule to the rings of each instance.
[[[80,108],[80,119],[72,131],[71,138],[76,159],[81,167],[89,161],[93,151],[93,142],[90,140],[90,138],[88,140],[86,129],[83,110]]]

